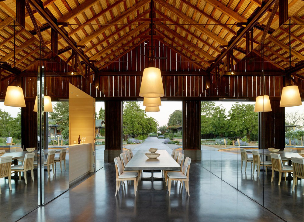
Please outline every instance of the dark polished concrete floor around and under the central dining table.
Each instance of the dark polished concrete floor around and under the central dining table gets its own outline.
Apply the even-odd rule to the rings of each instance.
[[[150,176],[149,172],[143,176]],[[161,176],[156,173],[155,176]],[[191,163],[190,196],[180,182],[167,193],[136,193],[126,183],[115,196],[113,162],[20,221],[281,221],[200,164]],[[149,187],[150,182],[140,183]],[[155,182],[163,188],[162,181]]]

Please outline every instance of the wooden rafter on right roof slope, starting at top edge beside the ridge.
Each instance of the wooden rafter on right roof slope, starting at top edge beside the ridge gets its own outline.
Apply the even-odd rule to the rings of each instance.
[[[187,22],[189,24],[195,24],[195,29],[199,30],[200,32],[202,32],[202,34],[208,36],[209,38],[211,38],[215,42],[219,43],[220,45],[226,45],[227,44],[227,42],[225,40],[223,40],[222,38],[220,38],[219,36],[217,36],[213,32],[209,31],[208,29],[204,28],[203,26],[201,26],[199,23],[197,23],[194,20],[192,20],[191,18],[189,18],[184,13],[178,11],[178,9],[174,8],[170,4],[164,2],[163,0],[155,0],[155,2],[157,2],[162,7],[164,7],[165,9],[170,11],[171,13],[175,14],[176,16],[178,16],[180,19],[184,20],[185,22]]]

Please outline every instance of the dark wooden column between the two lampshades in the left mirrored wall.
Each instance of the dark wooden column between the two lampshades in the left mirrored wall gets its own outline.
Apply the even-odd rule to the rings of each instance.
[[[21,145],[24,149],[37,148],[37,112],[34,112],[35,101],[25,101],[21,108]]]

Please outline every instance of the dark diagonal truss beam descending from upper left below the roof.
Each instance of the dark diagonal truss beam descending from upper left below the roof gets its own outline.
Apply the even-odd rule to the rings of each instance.
[[[82,50],[79,50],[74,42],[61,30],[57,24],[53,21],[53,19],[50,17],[50,15],[47,13],[47,11],[42,8],[35,0],[28,0],[29,3],[33,6],[34,9],[36,9],[37,12],[43,17],[43,19],[50,24],[51,28],[56,30],[58,34],[64,39],[64,41],[81,57],[82,60],[85,61],[85,63],[94,71],[97,72],[96,67],[90,63],[89,59],[83,54]],[[82,44],[80,44],[82,45]]]

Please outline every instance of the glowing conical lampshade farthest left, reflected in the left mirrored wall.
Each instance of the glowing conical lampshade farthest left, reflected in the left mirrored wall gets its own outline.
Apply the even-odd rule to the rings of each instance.
[[[4,99],[4,105],[13,107],[25,107],[22,88],[17,86],[8,86]]]

